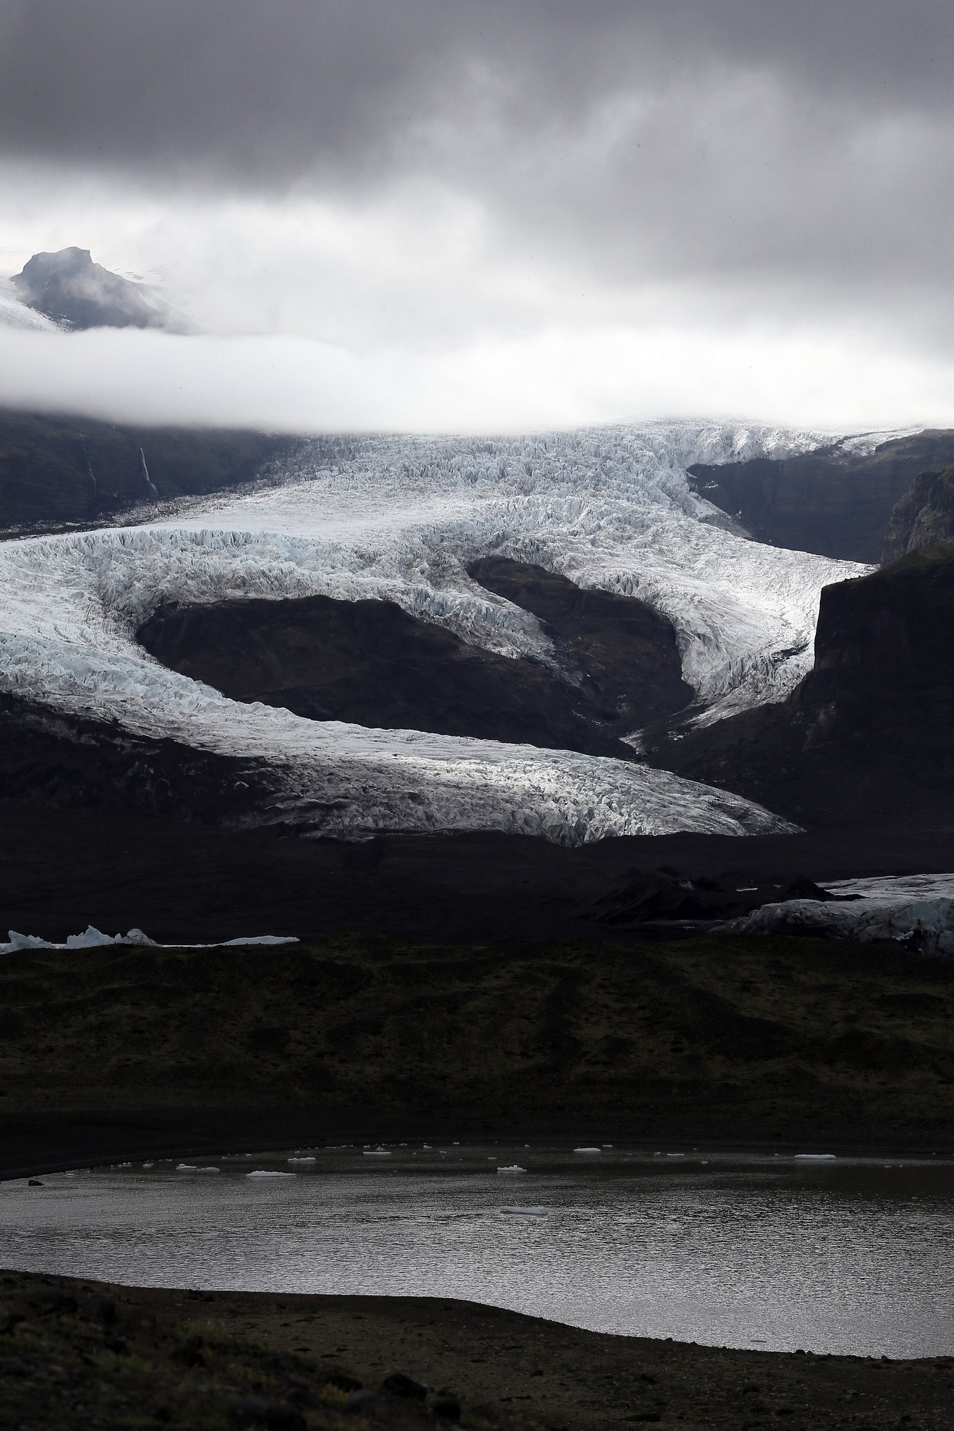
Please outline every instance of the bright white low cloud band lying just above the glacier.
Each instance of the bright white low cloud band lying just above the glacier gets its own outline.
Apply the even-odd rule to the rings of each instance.
[[[290,432],[503,432],[657,416],[943,425],[954,365],[850,333],[548,329],[422,353],[302,338],[0,331],[4,404]]]

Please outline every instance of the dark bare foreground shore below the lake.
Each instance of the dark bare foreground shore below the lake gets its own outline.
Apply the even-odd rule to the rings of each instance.
[[[62,1431],[433,1428],[458,1415],[473,1431],[874,1431],[950,1427],[954,1361],[608,1337],[443,1298],[199,1294],[11,1272],[0,1275],[0,1425]]]

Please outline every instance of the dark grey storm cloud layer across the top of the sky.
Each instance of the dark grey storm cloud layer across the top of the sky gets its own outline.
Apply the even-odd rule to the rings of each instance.
[[[948,316],[947,0],[4,0],[0,152],[272,196],[412,176],[616,283]],[[891,292],[885,293],[885,286]],[[821,295],[820,295],[821,296]]]

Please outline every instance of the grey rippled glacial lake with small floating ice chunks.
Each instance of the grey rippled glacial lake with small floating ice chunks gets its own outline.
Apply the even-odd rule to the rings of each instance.
[[[920,1162],[522,1143],[369,1153],[0,1183],[0,1262],[157,1286],[458,1296],[711,1345],[954,1354],[950,1151]],[[496,1171],[513,1165],[526,1172]],[[546,1215],[501,1211],[515,1205]]]

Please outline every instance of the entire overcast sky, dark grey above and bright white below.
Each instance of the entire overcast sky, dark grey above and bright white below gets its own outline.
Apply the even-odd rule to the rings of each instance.
[[[954,424],[950,0],[0,0],[0,399],[282,426]]]

